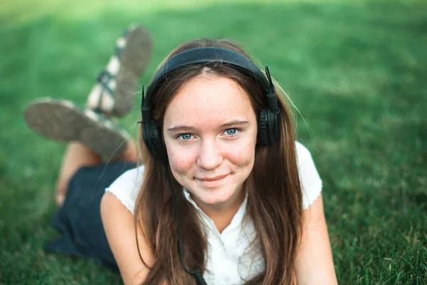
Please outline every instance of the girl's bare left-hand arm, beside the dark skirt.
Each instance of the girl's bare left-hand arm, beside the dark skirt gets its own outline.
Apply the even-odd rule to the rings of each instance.
[[[101,201],[101,217],[105,234],[126,285],[141,284],[149,269],[139,259],[135,240],[134,217],[115,195],[106,192]],[[153,257],[147,241],[138,230],[139,251],[149,266]]]

